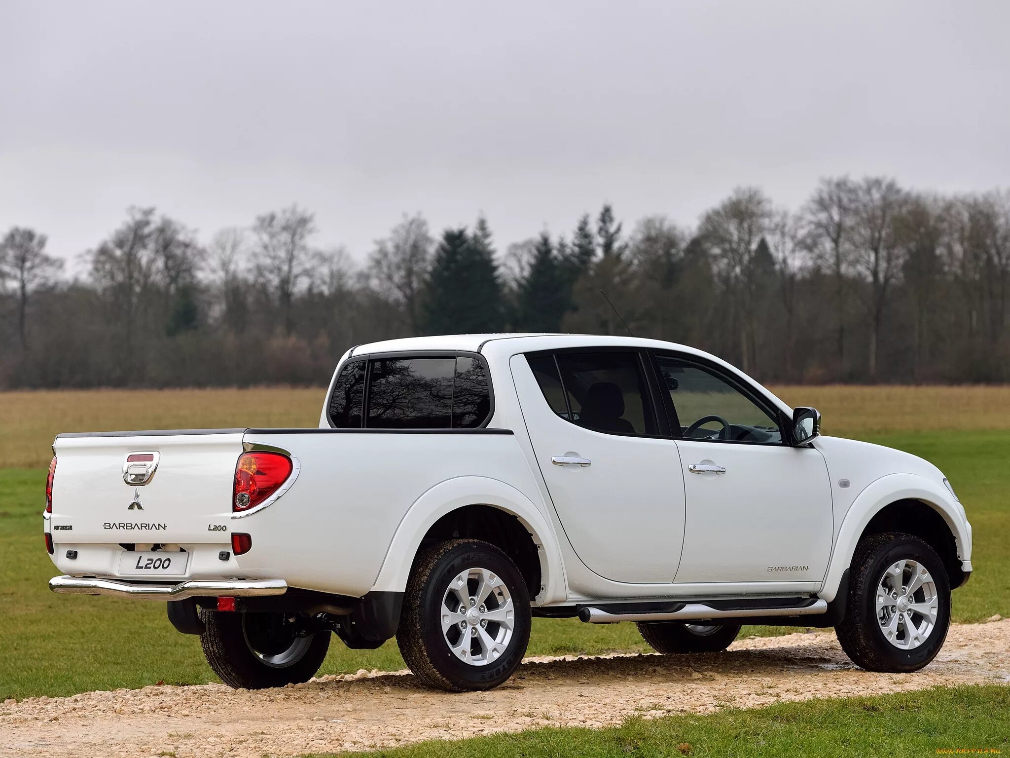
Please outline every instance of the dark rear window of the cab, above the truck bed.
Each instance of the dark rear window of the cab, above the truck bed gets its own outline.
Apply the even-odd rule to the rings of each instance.
[[[350,361],[329,397],[334,429],[478,429],[490,414],[487,369],[476,356]]]

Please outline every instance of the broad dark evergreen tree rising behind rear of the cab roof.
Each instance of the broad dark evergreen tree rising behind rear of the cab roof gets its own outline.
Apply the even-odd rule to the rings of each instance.
[[[435,252],[425,307],[432,335],[476,334],[502,328],[503,295],[491,230],[478,219],[473,234],[447,228]]]

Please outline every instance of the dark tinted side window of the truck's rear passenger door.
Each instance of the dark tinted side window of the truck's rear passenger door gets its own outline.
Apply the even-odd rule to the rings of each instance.
[[[566,420],[613,435],[655,434],[637,353],[561,353],[527,360],[547,404]]]

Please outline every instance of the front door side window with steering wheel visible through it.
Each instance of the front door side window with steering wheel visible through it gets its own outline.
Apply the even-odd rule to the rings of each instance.
[[[717,373],[677,358],[656,361],[685,439],[782,443],[778,420]]]

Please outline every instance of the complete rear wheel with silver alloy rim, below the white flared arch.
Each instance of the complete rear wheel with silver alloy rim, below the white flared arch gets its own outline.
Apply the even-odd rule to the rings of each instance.
[[[483,594],[482,578],[490,589],[483,604],[476,601]],[[450,622],[444,632],[443,620]],[[418,554],[396,642],[407,666],[428,686],[450,692],[491,689],[522,663],[529,626],[529,593],[509,557],[490,543],[448,540]]]

